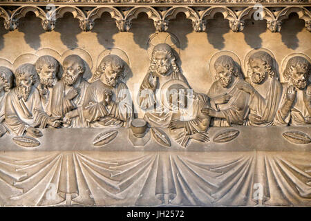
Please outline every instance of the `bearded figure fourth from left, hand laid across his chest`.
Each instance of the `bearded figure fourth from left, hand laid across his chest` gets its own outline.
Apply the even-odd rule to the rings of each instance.
[[[84,79],[84,61],[78,55],[68,55],[63,61],[64,74],[53,89],[50,113],[62,117],[66,127],[87,127],[82,105],[89,83]]]

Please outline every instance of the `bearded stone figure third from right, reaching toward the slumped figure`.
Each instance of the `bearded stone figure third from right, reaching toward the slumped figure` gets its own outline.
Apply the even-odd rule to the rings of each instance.
[[[209,93],[211,108],[203,108],[202,113],[214,117],[213,126],[245,125],[249,111],[249,94],[238,89],[239,84],[247,84],[232,57],[222,55],[216,59],[216,81]]]

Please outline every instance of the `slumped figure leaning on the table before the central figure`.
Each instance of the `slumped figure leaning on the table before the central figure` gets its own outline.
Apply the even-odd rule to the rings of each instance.
[[[208,142],[206,131],[211,118],[203,115],[201,109],[210,107],[209,98],[194,93],[183,81],[173,80],[167,84],[165,98],[169,104],[168,108],[173,111],[169,124],[173,139],[184,147],[191,139]]]

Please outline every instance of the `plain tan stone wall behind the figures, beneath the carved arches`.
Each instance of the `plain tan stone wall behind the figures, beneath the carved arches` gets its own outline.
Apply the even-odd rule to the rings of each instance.
[[[131,72],[126,84],[131,91],[135,108],[138,88],[149,67],[147,42],[156,32],[153,21],[144,13],[133,20],[129,32],[119,32],[114,19],[104,13],[91,32],[82,32],[77,19],[69,13],[59,19],[55,31],[45,32],[41,21],[32,12],[20,20],[19,28],[8,32],[0,21],[0,57],[12,63],[24,53],[35,53],[40,48],[53,48],[62,55],[68,49],[82,48],[93,59],[95,70],[97,57],[106,48],[120,48],[130,60]],[[272,33],[266,28],[266,21],[247,20],[242,32],[233,32],[229,21],[222,15],[207,21],[206,32],[194,32],[191,20],[182,13],[169,23],[168,32],[180,41],[180,65],[189,84],[198,93],[207,93],[212,83],[209,73],[209,60],[219,50],[230,50],[241,59],[254,48],[271,50],[279,64],[290,53],[301,52],[311,57],[311,35],[304,28],[304,21],[295,14],[283,21],[281,32]],[[142,113],[138,116],[140,117]]]

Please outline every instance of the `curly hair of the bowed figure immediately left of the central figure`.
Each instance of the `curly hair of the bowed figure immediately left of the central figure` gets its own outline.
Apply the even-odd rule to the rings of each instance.
[[[100,65],[97,67],[93,79],[97,80],[102,77],[102,74],[104,73],[104,70],[106,69],[106,66],[111,64],[115,68],[121,68],[122,69],[122,75],[120,77],[124,78],[124,68],[125,64],[124,61],[117,55],[107,55],[105,56],[102,61],[100,62]]]

